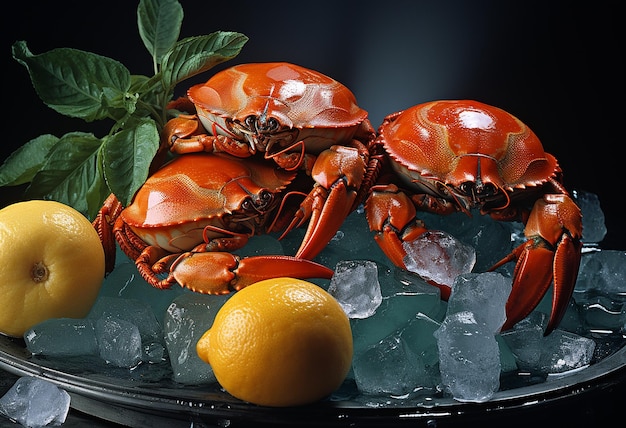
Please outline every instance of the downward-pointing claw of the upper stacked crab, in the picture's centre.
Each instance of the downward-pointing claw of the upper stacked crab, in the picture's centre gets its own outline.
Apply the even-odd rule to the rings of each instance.
[[[339,230],[352,211],[365,176],[366,161],[364,146],[335,145],[317,157],[311,171],[315,186],[282,235],[309,220],[297,258],[314,258]]]

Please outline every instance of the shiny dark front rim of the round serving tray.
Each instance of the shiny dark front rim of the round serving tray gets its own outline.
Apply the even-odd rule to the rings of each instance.
[[[442,419],[459,415],[505,412],[512,409],[547,405],[568,397],[588,393],[597,388],[626,382],[626,346],[610,356],[563,376],[554,376],[543,383],[498,391],[483,403],[463,403],[452,398],[436,398],[416,402],[413,406],[390,405],[366,407],[352,401],[321,401],[312,405],[274,408],[240,401],[225,392],[204,392],[194,388],[180,389],[137,385],[128,388],[115,383],[114,377],[100,380],[85,378],[40,365],[30,359],[29,352],[12,338],[0,335],[0,369],[16,376],[33,376],[50,381],[72,396],[72,407],[103,417],[111,413],[106,407],[125,408],[148,417],[171,420],[189,418],[299,424],[323,421],[343,425],[358,419],[372,421],[416,421]],[[110,379],[110,382],[106,381]],[[180,396],[174,396],[173,392]],[[191,394],[191,392],[196,392]],[[101,408],[98,409],[98,406]],[[101,413],[101,414],[97,414]],[[106,414],[106,415],[105,415]],[[110,415],[109,415],[110,416]],[[103,417],[108,419],[107,417]],[[109,419],[110,420],[110,419]],[[123,423],[123,422],[122,422]],[[168,422],[169,423],[169,422]],[[187,425],[188,426],[188,425]]]

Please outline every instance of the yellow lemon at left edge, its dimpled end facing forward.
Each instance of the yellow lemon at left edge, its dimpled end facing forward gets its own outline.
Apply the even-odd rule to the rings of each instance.
[[[89,220],[55,201],[0,210],[0,332],[19,337],[49,318],[83,318],[104,279],[104,250]]]

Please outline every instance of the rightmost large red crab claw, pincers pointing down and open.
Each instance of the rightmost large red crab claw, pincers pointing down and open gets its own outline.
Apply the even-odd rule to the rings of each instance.
[[[544,195],[535,203],[524,234],[528,241],[491,268],[517,260],[502,330],[528,316],[554,283],[552,313],[544,332],[548,335],[561,322],[576,285],[582,248],[580,209],[567,195]]]

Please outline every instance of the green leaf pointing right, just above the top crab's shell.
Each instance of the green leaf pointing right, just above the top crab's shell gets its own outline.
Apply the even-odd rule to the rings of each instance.
[[[164,86],[174,87],[189,77],[236,57],[247,41],[245,35],[227,31],[179,41],[163,57],[161,73]]]

